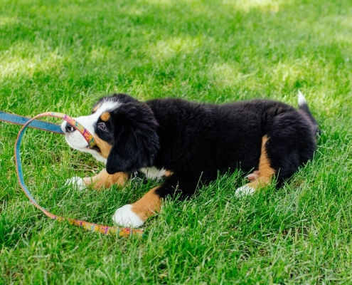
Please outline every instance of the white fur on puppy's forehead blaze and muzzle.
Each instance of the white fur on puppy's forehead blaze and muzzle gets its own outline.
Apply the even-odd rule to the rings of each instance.
[[[120,105],[121,103],[117,101],[107,100],[100,104],[99,108],[97,108],[95,113],[75,118],[75,120],[77,120],[78,123],[85,127],[92,134],[92,136],[95,137],[95,124],[99,120],[102,113],[112,111],[118,108]],[[100,155],[97,150],[92,150],[88,147],[87,141],[85,140],[85,138],[83,138],[80,132],[73,131],[72,133],[68,133],[66,131],[66,125],[67,122],[63,122],[61,124],[61,129],[63,130],[63,133],[65,133],[66,142],[68,142],[68,145],[70,145],[70,147],[75,150],[80,150],[81,152],[88,152],[93,155],[96,160],[106,163],[105,157],[102,157],[102,155]]]

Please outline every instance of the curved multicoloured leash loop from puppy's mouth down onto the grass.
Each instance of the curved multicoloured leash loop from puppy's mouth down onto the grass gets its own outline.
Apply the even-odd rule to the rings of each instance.
[[[15,160],[16,160],[16,171],[17,171],[18,182],[19,182],[19,185],[21,186],[23,192],[28,197],[28,199],[31,200],[31,202],[34,204],[34,206],[36,206],[44,214],[46,214],[46,216],[50,217],[51,219],[55,219],[59,222],[68,221],[69,224],[74,224],[75,226],[83,227],[84,229],[90,230],[92,232],[100,232],[102,234],[113,234],[113,235],[117,235],[119,237],[131,237],[131,236],[142,237],[143,236],[142,229],[110,227],[110,226],[104,226],[101,224],[93,224],[90,222],[81,221],[79,219],[70,219],[70,218],[60,217],[60,216],[57,216],[55,214],[50,213],[47,209],[44,209],[36,202],[36,199],[33,198],[33,196],[29,192],[29,190],[26,187],[26,184],[24,182],[23,169],[22,169],[22,163],[21,163],[21,155],[20,155],[20,147],[21,147],[21,140],[23,138],[23,135],[24,135],[26,128],[28,128],[28,126],[31,124],[31,122],[33,122],[33,120],[36,120],[37,118],[41,118],[41,117],[55,117],[55,118],[60,118],[60,119],[65,120],[66,122],[70,123],[70,125],[73,125],[73,128],[78,130],[83,135],[85,140],[87,140],[89,147],[93,147],[95,145],[95,140],[94,140],[93,136],[88,132],[88,130],[85,129],[76,120],[74,120],[73,118],[70,118],[68,115],[65,115],[63,113],[55,113],[55,112],[42,113],[42,114],[36,115],[34,118],[32,118],[32,119],[28,120],[26,123],[24,123],[23,127],[21,128],[21,130],[18,133],[16,144],[15,144]],[[45,128],[41,128],[41,129],[47,130]],[[51,130],[47,130],[47,131],[51,131]]]

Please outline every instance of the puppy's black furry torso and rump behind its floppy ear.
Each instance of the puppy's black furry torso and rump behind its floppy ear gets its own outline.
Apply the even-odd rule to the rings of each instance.
[[[298,165],[313,157],[316,130],[309,116],[303,114],[306,110],[272,100],[223,105],[180,99],[146,103],[159,123],[161,147],[156,167],[196,169],[209,180],[214,179],[218,170],[226,172],[240,167],[249,172],[258,167],[265,135],[274,140],[268,145],[268,152],[277,170],[282,168],[282,160],[292,158],[285,157],[287,152],[294,158],[294,162],[287,161],[287,166],[292,167],[279,172],[279,179],[290,177]],[[285,154],[271,150],[271,145]]]

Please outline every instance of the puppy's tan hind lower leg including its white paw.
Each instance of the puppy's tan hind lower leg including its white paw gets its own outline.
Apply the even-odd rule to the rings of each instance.
[[[275,175],[275,170],[270,165],[269,157],[267,156],[267,150],[265,145],[269,138],[265,135],[262,138],[262,149],[260,152],[260,160],[259,160],[259,168],[256,170],[255,175],[252,175],[250,178],[251,182],[243,185],[242,187],[238,188],[235,191],[235,195],[242,196],[242,195],[249,195],[255,192],[255,190],[265,187],[269,185],[272,181],[272,177]]]

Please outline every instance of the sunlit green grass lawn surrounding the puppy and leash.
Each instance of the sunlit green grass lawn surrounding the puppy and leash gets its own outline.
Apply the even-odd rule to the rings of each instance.
[[[146,237],[53,222],[21,192],[18,126],[0,123],[0,284],[352,283],[352,4],[340,1],[0,0],[0,110],[82,115],[101,95],[223,103],[302,90],[316,157],[284,187],[236,199],[240,173],[164,203]],[[58,122],[59,123],[59,122]],[[112,224],[155,182],[77,192],[103,166],[28,130],[26,183],[43,207]]]

